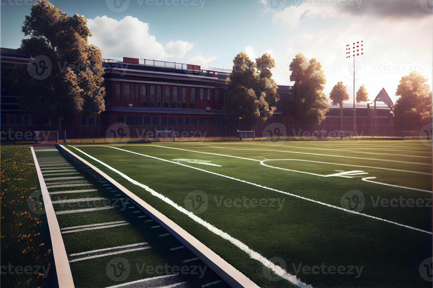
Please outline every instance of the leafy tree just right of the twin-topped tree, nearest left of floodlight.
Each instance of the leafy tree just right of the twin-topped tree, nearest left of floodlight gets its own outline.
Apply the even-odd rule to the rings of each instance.
[[[322,123],[329,111],[328,99],[323,93],[326,76],[322,65],[314,58],[308,61],[299,53],[290,64],[290,70],[290,81],[295,82],[293,98],[286,99],[281,104],[282,109],[301,123]]]

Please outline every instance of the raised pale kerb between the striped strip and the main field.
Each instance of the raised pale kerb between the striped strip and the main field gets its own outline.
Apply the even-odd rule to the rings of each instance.
[[[205,246],[203,243],[197,240],[194,236],[189,234],[187,231],[185,231],[183,228],[181,228],[179,225],[174,223],[172,220],[170,220],[167,216],[150,206],[148,203],[146,203],[143,199],[141,199],[136,194],[132,193],[122,185],[120,185],[116,180],[105,174],[103,171],[95,167],[94,165],[90,164],[90,162],[84,160],[79,155],[75,154],[74,152],[70,151],[69,149],[66,149],[63,145],[59,145],[62,149],[64,149],[69,154],[73,155],[78,160],[82,161],[84,164],[92,168],[94,171],[99,173],[102,177],[110,181],[113,186],[116,186],[119,190],[121,190],[123,193],[125,193],[130,199],[135,201],[139,206],[141,206],[143,209],[145,209],[147,212],[149,212],[151,215],[153,215],[155,218],[161,222],[162,225],[165,226],[165,228],[174,236],[178,235],[180,237],[181,242],[185,244],[190,250],[192,250],[197,256],[199,256],[208,266],[210,266],[225,282],[227,282],[232,287],[248,287],[248,288],[259,288],[254,282],[252,282],[248,277],[243,275],[239,270],[237,270],[235,267],[233,267],[231,264],[229,264],[226,260],[221,258],[221,256],[217,255],[215,252],[210,250],[209,247]],[[74,147],[74,146],[71,146]],[[75,147],[74,147],[75,148]],[[77,149],[79,150],[79,149]],[[84,154],[84,153],[83,153]],[[90,155],[89,155],[90,156]],[[92,158],[92,156],[90,156]],[[105,164],[106,165],[106,164]],[[124,174],[121,174],[124,177],[127,177]],[[132,180],[132,179],[131,179]],[[142,185],[142,184],[141,184]],[[143,185],[145,186],[145,185]],[[147,187],[147,186],[145,186]],[[147,187],[149,190],[150,188]],[[153,190],[151,190],[153,191]],[[155,191],[153,191],[155,192]],[[156,192],[155,192],[156,193]],[[161,195],[162,196],[162,195]],[[162,196],[164,197],[164,196]],[[165,197],[164,197],[165,198]],[[168,201],[168,198],[165,198]],[[174,203],[173,203],[174,204]],[[176,204],[174,204],[176,205]],[[179,209],[183,209],[179,207]],[[188,212],[186,209],[183,209],[184,211],[181,212],[187,212],[192,214],[191,212]],[[194,214],[192,214],[194,215]],[[195,215],[194,215],[195,216]],[[195,216],[197,217],[197,216]],[[198,218],[198,217],[197,217]],[[198,218],[200,219],[200,218]],[[201,219],[200,219],[201,220]],[[203,221],[203,220],[201,220]],[[157,228],[160,227],[159,225],[153,226],[151,228]],[[221,233],[224,233],[221,231]],[[183,241],[182,241],[183,240]],[[268,261],[269,264],[276,266],[275,264]],[[278,267],[278,266],[276,266]],[[280,268],[280,267],[278,267]],[[284,271],[284,270],[283,270]],[[138,283],[138,282],[137,282]],[[302,283],[302,282],[301,282]],[[122,287],[122,285],[116,285],[112,287]]]

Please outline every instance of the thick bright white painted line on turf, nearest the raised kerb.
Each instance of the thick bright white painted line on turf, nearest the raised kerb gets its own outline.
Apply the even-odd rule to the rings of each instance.
[[[262,256],[260,253],[255,252],[254,250],[252,250],[251,248],[249,248],[246,244],[242,243],[241,241],[237,240],[236,238],[230,236],[229,234],[227,234],[226,232],[223,232],[222,230],[214,227],[213,225],[211,225],[210,223],[204,221],[203,219],[201,219],[200,217],[198,217],[197,215],[195,215],[194,213],[188,211],[187,209],[183,208],[182,206],[179,206],[178,204],[174,203],[171,199],[168,199],[167,197],[165,197],[164,195],[156,192],[155,190],[153,190],[152,188],[130,178],[129,176],[127,176],[126,174],[123,174],[122,172],[114,169],[113,167],[111,167],[110,165],[98,160],[97,158],[94,158],[93,156],[90,156],[89,154],[81,151],[80,149],[71,146],[72,148],[78,150],[79,152],[83,153],[84,155],[86,155],[87,157],[93,159],[94,161],[97,161],[98,163],[104,165],[105,167],[107,167],[108,169],[110,169],[111,171],[119,174],[120,176],[122,176],[123,178],[125,178],[126,180],[128,180],[130,183],[135,184],[143,189],[145,189],[146,191],[148,191],[149,193],[151,193],[153,196],[158,197],[159,199],[162,199],[165,203],[171,205],[172,207],[174,207],[175,209],[177,209],[178,211],[184,213],[185,215],[187,215],[188,217],[190,217],[191,219],[193,219],[195,222],[197,222],[200,225],[203,225],[205,228],[207,228],[209,231],[213,232],[214,234],[222,237],[223,239],[226,239],[227,241],[230,241],[233,245],[235,245],[236,247],[238,247],[240,250],[244,251],[245,253],[247,253],[252,259],[254,260],[258,260],[260,261],[264,266],[268,267],[269,269],[271,269],[272,271],[275,272],[275,274],[279,275],[281,278],[284,278],[286,280],[288,280],[289,282],[293,283],[294,285],[297,285],[301,288],[307,288],[307,287],[312,287],[311,285],[307,285],[304,282],[301,282],[301,280],[296,278],[296,275],[291,275],[288,272],[286,272],[283,268],[281,268],[278,265],[275,265],[274,263],[272,263],[271,261],[269,261],[268,259],[266,259],[264,256]],[[114,148],[114,147],[110,147],[110,148]],[[115,148],[118,149],[118,148]],[[123,150],[123,149],[120,149]],[[126,150],[124,150],[126,151]],[[126,151],[129,152],[129,151]],[[139,153],[136,153],[138,155],[140,155]],[[155,159],[159,159],[159,160],[163,160],[160,158],[156,158],[156,157],[151,157],[151,158],[155,158]],[[163,161],[168,161],[168,160],[163,160]],[[168,161],[170,163],[175,163],[172,161]],[[179,164],[176,163],[178,165],[181,166],[185,166],[185,167],[190,167],[193,169],[197,169],[200,171],[205,171],[202,170],[200,168],[194,168],[191,166],[187,166],[184,164]],[[153,226],[151,228],[159,228],[160,226]]]

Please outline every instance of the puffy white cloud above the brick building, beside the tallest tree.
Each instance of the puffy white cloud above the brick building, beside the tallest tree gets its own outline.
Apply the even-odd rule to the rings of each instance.
[[[170,41],[165,45],[158,43],[149,34],[149,24],[132,16],[120,21],[107,16],[89,19],[88,27],[92,33],[89,43],[101,49],[105,58],[146,58],[165,60],[181,58],[194,47],[185,41]]]

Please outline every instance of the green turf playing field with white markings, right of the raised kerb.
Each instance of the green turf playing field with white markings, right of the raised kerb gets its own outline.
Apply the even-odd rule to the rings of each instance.
[[[431,146],[431,142],[430,142]],[[66,146],[262,287],[431,287],[419,141]]]

